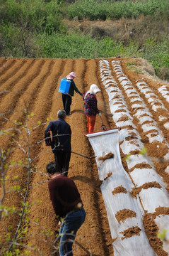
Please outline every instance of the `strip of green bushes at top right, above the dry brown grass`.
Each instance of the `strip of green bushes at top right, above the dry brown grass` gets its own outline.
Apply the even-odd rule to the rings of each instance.
[[[95,0],[80,0],[71,4],[67,8],[67,13],[70,18],[78,16],[78,18],[88,18],[91,21],[95,19],[107,18],[137,18],[141,14],[144,16],[158,13],[165,14],[168,10],[168,1],[95,1]]]

